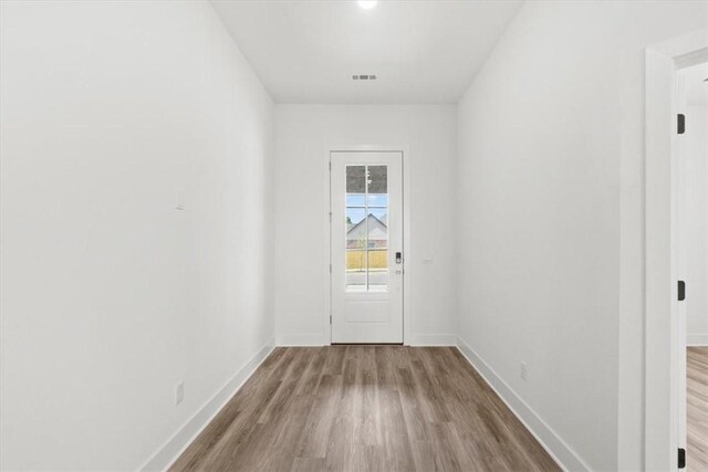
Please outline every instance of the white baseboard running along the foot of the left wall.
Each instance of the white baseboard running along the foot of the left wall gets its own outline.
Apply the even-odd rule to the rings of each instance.
[[[274,348],[274,339],[269,340],[236,375],[205,403],[177,432],[159,448],[139,468],[140,471],[165,471],[181,455],[197,436],[221,411],[226,403],[236,395],[246,380],[251,377]]]

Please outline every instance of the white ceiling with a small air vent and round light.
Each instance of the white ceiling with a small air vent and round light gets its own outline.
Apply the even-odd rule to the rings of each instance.
[[[521,1],[211,0],[277,103],[455,103]],[[375,81],[353,81],[375,74]]]

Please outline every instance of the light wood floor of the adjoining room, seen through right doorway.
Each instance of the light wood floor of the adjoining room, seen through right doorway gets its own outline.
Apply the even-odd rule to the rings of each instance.
[[[688,447],[689,471],[708,471],[708,347],[688,348]]]

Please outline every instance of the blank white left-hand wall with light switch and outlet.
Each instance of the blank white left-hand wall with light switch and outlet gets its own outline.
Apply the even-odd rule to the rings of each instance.
[[[0,468],[134,470],[272,339],[273,105],[206,2],[1,17]]]

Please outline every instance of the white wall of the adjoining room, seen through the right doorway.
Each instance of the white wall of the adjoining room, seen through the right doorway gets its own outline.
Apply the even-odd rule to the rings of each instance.
[[[687,284],[686,327],[689,345],[708,345],[708,106],[685,109],[681,136],[679,271]]]

